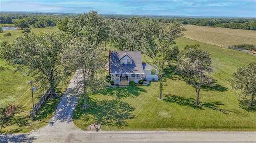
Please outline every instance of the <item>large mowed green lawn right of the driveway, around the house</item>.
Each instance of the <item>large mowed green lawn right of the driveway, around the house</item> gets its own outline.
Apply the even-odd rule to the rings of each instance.
[[[200,106],[195,106],[196,91],[186,84],[186,78],[168,69],[163,100],[158,99],[159,82],[151,82],[149,86],[107,88],[90,94],[90,108],[86,110],[82,109],[80,99],[74,110],[74,123],[87,130],[95,120],[102,124],[104,131],[256,131],[256,110],[243,108],[228,82],[237,67],[256,61],[256,57],[185,38],[177,39],[176,44],[180,50],[188,44],[200,44],[221,65],[212,75],[216,85],[201,90]],[[98,103],[105,103],[105,108]],[[124,110],[116,107],[132,109],[132,116],[122,114]]]

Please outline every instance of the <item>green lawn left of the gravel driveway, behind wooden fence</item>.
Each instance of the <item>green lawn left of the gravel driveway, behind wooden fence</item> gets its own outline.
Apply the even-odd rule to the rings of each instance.
[[[14,68],[0,61],[0,65],[6,70],[0,73],[0,134],[1,133],[26,133],[38,129],[51,121],[52,113],[57,108],[60,97],[47,100],[41,108],[36,120],[30,119],[29,112],[32,110],[31,80],[29,76],[21,72],[13,74]],[[69,79],[70,80],[70,79]],[[33,84],[36,86],[36,84]],[[68,85],[60,85],[58,93],[64,93]],[[34,92],[34,104],[36,104],[44,91]],[[3,119],[3,113],[11,104],[15,104],[14,114],[7,120]]]

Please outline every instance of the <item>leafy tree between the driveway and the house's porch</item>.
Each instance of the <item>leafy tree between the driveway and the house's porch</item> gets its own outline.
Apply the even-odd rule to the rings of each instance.
[[[96,47],[96,43],[90,44],[87,37],[74,36],[70,46],[65,49],[65,61],[70,64],[72,71],[82,74],[82,80],[78,82],[83,89],[84,108],[87,108],[86,91],[104,88],[108,82],[104,77],[96,77],[98,69],[102,69],[106,63],[103,47]]]

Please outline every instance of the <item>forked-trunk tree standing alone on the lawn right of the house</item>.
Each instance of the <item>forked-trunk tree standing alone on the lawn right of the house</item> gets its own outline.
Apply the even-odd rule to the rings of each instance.
[[[188,83],[196,90],[196,105],[199,105],[199,93],[202,85],[210,84],[213,79],[210,53],[202,50],[199,45],[187,45],[178,56],[178,70],[186,72]]]

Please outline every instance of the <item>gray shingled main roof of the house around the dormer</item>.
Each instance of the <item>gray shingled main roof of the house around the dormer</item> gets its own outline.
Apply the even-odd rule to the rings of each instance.
[[[126,55],[132,59],[132,65],[122,65],[120,63],[120,59]],[[144,74],[140,51],[112,51],[110,55],[110,73]]]

